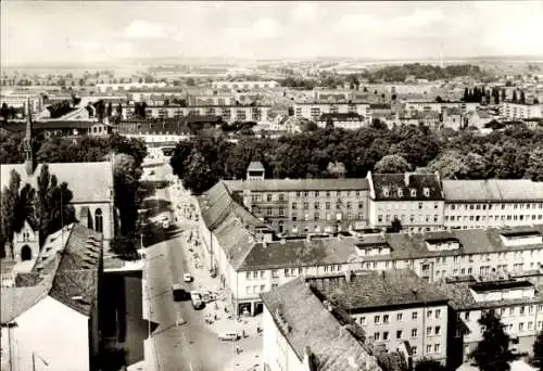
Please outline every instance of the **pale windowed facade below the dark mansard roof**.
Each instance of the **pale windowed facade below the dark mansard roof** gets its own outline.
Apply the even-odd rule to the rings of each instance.
[[[369,225],[390,227],[394,217],[411,232],[443,229],[443,201],[375,201],[369,199]]]

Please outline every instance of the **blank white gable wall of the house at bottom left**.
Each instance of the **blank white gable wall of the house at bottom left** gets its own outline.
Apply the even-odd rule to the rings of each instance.
[[[13,370],[33,371],[33,353],[36,370],[90,369],[88,317],[46,297],[15,321],[17,325],[11,328],[9,334]],[[4,334],[8,337],[7,330],[2,328],[2,342]]]

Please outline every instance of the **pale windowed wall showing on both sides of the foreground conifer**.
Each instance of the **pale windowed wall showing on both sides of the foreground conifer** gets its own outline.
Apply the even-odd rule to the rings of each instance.
[[[540,331],[543,330],[543,304],[517,304],[495,308],[496,315],[505,324],[505,331],[512,337],[510,347],[519,353],[533,354],[532,344]],[[458,320],[469,329],[469,333],[459,334],[464,337],[464,359],[477,347],[482,340],[483,330],[478,320],[482,310],[459,310]],[[518,341],[518,342],[517,342]]]

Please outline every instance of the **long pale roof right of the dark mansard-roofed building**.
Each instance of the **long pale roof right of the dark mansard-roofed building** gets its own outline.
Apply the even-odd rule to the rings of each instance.
[[[543,202],[543,182],[529,179],[443,180],[443,192],[452,201]]]

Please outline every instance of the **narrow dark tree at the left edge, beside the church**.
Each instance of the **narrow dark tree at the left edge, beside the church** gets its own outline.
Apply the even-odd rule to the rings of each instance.
[[[21,188],[21,176],[17,171],[11,170],[10,174],[10,183],[8,187],[4,187],[2,190],[2,203],[1,203],[1,217],[2,220],[0,222],[0,235],[4,241],[2,242],[2,255],[7,256],[8,253],[13,256],[13,233],[16,228],[16,220],[20,218],[17,210],[17,206],[21,204],[20,202],[20,193],[18,189]],[[8,251],[4,250],[7,245]]]

